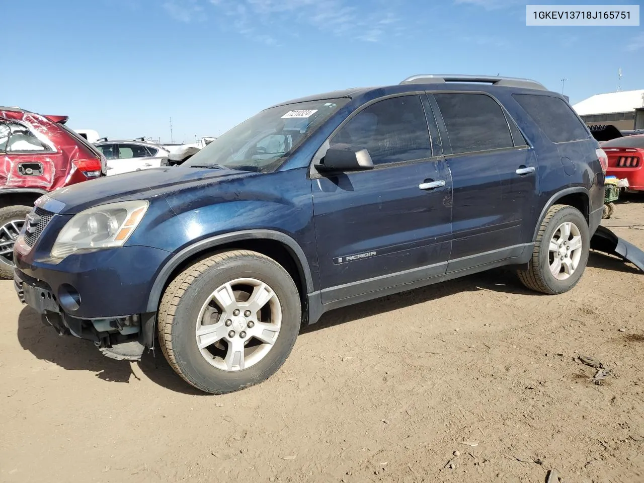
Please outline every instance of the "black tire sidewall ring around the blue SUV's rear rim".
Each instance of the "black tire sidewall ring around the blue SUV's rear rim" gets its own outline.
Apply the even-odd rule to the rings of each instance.
[[[554,278],[552,272],[550,271],[549,263],[549,245],[550,240],[553,238],[554,232],[560,225],[564,222],[574,223],[582,236],[582,256],[577,265],[577,269],[574,271],[574,274],[565,280],[558,280]],[[540,269],[543,274],[544,283],[549,289],[551,289],[556,294],[562,294],[572,289],[582,278],[583,272],[588,263],[589,248],[590,248],[590,233],[588,229],[588,223],[585,218],[583,218],[582,213],[573,207],[565,207],[558,213],[556,213],[550,223],[548,224],[547,229],[544,232],[542,238],[542,243],[539,253],[539,262]]]

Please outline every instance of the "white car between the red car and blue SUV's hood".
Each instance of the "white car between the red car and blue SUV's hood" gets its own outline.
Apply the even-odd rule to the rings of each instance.
[[[108,160],[108,176],[167,166],[170,152],[163,146],[137,139],[102,138],[94,145]]]

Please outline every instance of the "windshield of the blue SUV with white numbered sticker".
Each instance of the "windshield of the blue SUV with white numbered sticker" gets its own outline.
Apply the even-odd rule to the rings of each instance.
[[[216,138],[183,166],[269,173],[348,101],[310,100],[265,109]]]

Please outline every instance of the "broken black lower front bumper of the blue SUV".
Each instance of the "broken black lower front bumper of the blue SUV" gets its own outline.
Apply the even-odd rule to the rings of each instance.
[[[82,319],[70,316],[46,283],[15,270],[14,288],[20,301],[41,314],[44,325],[59,335],[71,335],[94,343],[112,359],[140,360],[146,346],[153,348],[148,334],[155,314]]]

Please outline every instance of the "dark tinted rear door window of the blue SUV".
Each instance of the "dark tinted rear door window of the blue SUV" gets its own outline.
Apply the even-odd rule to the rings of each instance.
[[[453,154],[514,147],[506,115],[484,94],[439,94],[439,105]]]

